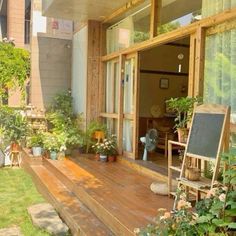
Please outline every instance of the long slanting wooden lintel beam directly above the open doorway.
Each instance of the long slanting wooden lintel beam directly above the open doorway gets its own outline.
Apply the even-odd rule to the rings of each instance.
[[[193,34],[196,32],[196,30],[200,27],[211,27],[218,24],[221,24],[227,20],[232,20],[236,18],[236,8],[232,10],[224,11],[223,13],[205,18],[203,20],[200,20],[198,22],[192,23],[190,25],[181,27],[179,29],[173,30],[171,32],[161,34],[153,39],[149,39],[147,41],[135,44],[127,49],[120,50],[119,52],[114,52],[109,55],[103,56],[103,61],[111,60],[112,58],[118,57],[120,54],[129,54],[134,53],[137,51],[146,50],[152,47],[156,47],[158,45],[165,44],[170,41],[175,41],[181,38],[184,38],[190,34]]]

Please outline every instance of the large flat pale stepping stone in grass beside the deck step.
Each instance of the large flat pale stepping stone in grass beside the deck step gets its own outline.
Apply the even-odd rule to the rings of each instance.
[[[30,206],[28,207],[28,213],[35,226],[53,235],[66,235],[69,230],[49,203]]]

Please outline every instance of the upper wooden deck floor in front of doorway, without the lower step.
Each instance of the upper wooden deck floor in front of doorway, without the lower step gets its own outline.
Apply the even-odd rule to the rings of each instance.
[[[150,191],[152,178],[138,174],[122,163],[100,163],[86,157],[48,162],[75,184],[78,197],[82,197],[86,205],[90,202],[82,194],[95,199],[97,205],[90,207],[101,206],[129,232],[150,223],[158,208],[171,209],[173,205],[172,199]]]

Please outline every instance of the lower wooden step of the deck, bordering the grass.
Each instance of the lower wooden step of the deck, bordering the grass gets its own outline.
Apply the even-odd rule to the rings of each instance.
[[[43,166],[33,166],[35,175],[43,182],[54,199],[56,209],[65,217],[66,223],[78,228],[75,235],[113,235],[53,174]],[[74,230],[75,231],[75,230]]]

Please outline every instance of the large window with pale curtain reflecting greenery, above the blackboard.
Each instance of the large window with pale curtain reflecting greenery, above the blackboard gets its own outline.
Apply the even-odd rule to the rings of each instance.
[[[230,105],[232,124],[236,124],[235,52],[235,28],[206,37],[204,102]],[[236,134],[232,135],[232,143],[236,144]]]

